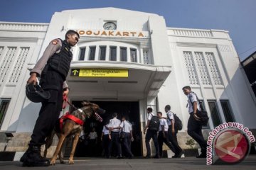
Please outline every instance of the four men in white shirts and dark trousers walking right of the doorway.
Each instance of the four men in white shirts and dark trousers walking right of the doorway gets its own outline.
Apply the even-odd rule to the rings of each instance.
[[[201,111],[200,103],[195,93],[191,91],[190,86],[183,87],[183,93],[188,97],[188,113],[190,117],[188,118],[188,135],[190,135],[198,145],[201,147],[201,154],[197,156],[197,158],[206,158],[206,147],[207,143],[203,138],[202,134],[202,125],[199,123],[200,118],[196,113]],[[171,106],[166,105],[164,108],[167,117],[164,118],[162,113],[159,111],[155,116],[153,114],[152,108],[147,108],[147,122],[146,127],[144,128],[144,134],[146,133],[146,158],[151,158],[151,148],[149,145],[149,141],[153,139],[154,146],[156,149],[156,154],[154,158],[161,158],[163,156],[162,148],[165,143],[172,152],[174,152],[173,158],[179,158],[184,154],[183,149],[178,145],[177,133],[178,129],[175,128],[175,119],[174,113],[171,112]],[[157,120],[153,120],[153,118],[159,119],[159,128],[151,128],[150,125],[152,122],[156,122]],[[152,123],[154,124],[154,123]]]

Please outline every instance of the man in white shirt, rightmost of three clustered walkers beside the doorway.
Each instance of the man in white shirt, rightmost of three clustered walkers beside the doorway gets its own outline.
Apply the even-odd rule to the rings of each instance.
[[[182,154],[184,154],[183,149],[178,145],[178,140],[177,140],[177,133],[178,130],[174,128],[174,113],[171,112],[171,106],[166,105],[164,108],[164,111],[166,111],[167,115],[167,125],[168,125],[168,135],[169,135],[169,140],[171,144],[174,146],[175,152],[174,152],[174,157],[173,158],[180,158]]]

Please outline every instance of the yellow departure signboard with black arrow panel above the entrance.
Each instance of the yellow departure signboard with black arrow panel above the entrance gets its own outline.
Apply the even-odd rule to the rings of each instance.
[[[71,77],[128,77],[128,69],[71,69]]]

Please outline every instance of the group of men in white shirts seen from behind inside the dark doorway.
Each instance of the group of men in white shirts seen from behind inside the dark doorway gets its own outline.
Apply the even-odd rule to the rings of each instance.
[[[125,156],[132,159],[134,157],[131,151],[131,142],[134,141],[132,124],[129,123],[127,116],[122,117],[122,122],[117,119],[117,113],[113,113],[112,117],[102,130],[102,146],[105,157],[112,156],[121,159]]]

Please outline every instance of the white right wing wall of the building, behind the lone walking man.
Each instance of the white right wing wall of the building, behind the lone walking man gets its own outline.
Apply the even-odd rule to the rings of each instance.
[[[247,81],[242,76],[238,54],[228,31],[167,28],[167,32],[173,74],[166,79],[159,92],[160,108],[164,109],[164,105],[170,103],[174,112],[182,113],[186,127],[187,98],[181,89],[189,85],[198,98],[203,99],[208,113],[210,108],[207,101],[217,102],[220,123],[226,122],[220,104],[220,100],[224,99],[230,102],[236,122],[255,128],[255,103],[247,89]],[[211,117],[209,124],[210,129],[213,129]]]

